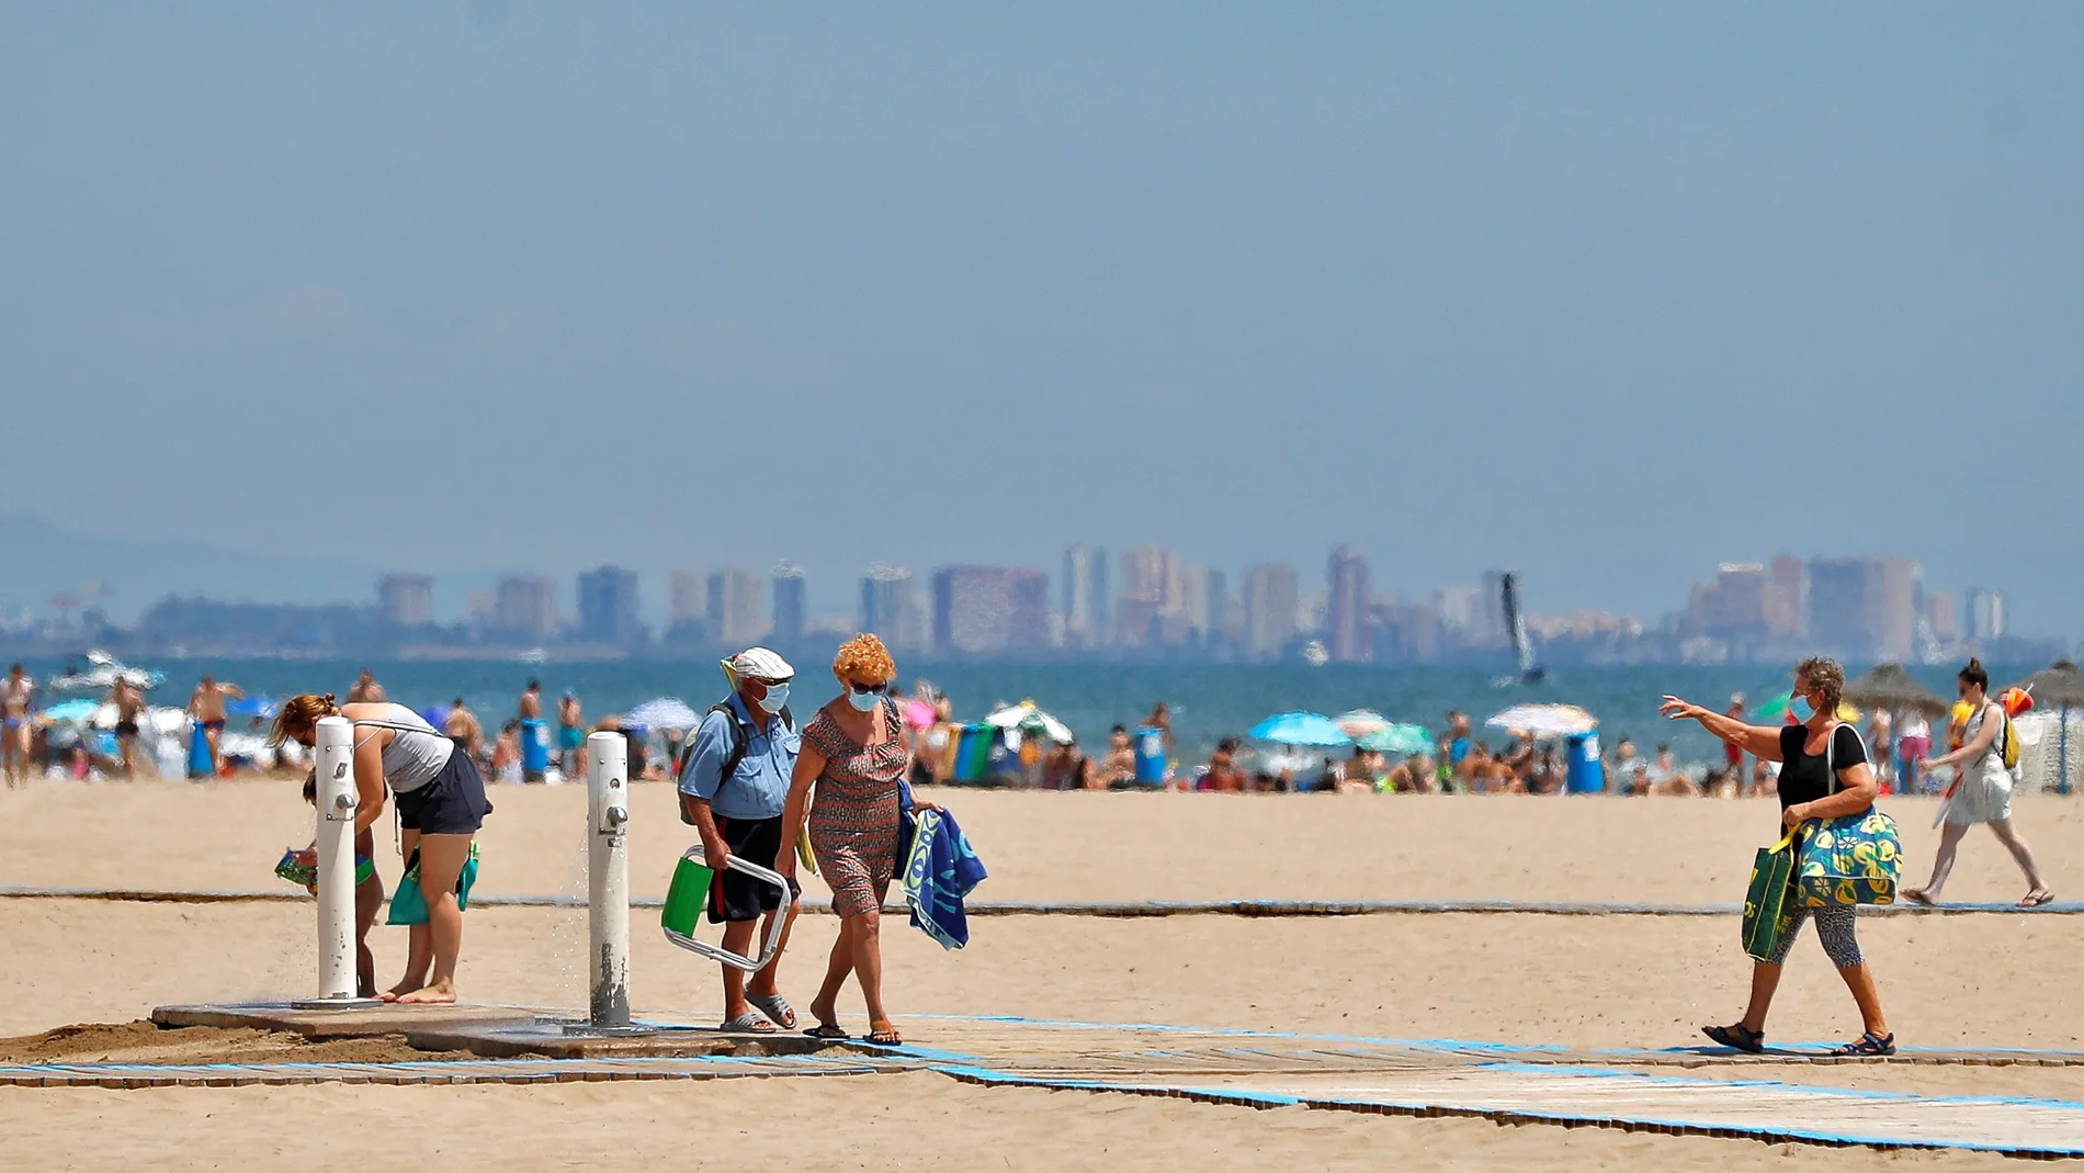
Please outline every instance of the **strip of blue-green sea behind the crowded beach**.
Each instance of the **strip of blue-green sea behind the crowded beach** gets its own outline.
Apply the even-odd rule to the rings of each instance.
[[[48,679],[65,671],[65,660],[31,660],[29,671]],[[465,698],[486,727],[498,727],[515,713],[515,700],[529,679],[542,679],[546,715],[554,698],[573,690],[586,706],[588,723],[609,713],[629,710],[646,700],[673,696],[696,710],[725,694],[717,660],[286,660],[286,658],[185,658],[150,660],[167,673],[154,690],[154,704],[183,706],[196,677],[210,673],[250,694],[290,696],[333,692],[346,696],[361,669],[371,669],[392,700],[417,710]],[[838,685],[821,665],[796,665],[792,708],[809,715],[829,700]],[[2042,665],[1992,665],[1992,683],[2024,679]],[[932,681],[954,702],[961,721],[982,719],[1000,704],[1034,700],[1077,733],[1084,746],[1105,746],[1113,725],[1136,727],[1163,700],[1173,717],[1180,760],[1207,760],[1225,735],[1242,735],[1271,713],[1315,710],[1338,715],[1373,708],[1390,721],[1413,721],[1430,729],[1446,725],[1446,713],[1461,710],[1484,738],[1484,719],[1511,704],[1578,704],[1601,721],[1601,740],[1632,738],[1646,754],[1669,744],[1686,763],[1719,760],[1717,742],[1698,725],[1665,721],[1657,704],[1665,694],[1721,710],[1742,692],[1748,704],[1788,690],[1788,669],[1742,667],[1561,667],[1540,683],[1500,681],[1494,671],[1465,667],[1375,667],[1375,665],[1121,665],[1121,663],[900,663],[900,683]],[[1857,675],[1865,665],[1849,665]],[[1911,667],[1909,671],[1942,698],[1955,696],[1959,665]],[[44,702],[50,698],[46,696]],[[1505,740],[1490,731],[1492,744]]]

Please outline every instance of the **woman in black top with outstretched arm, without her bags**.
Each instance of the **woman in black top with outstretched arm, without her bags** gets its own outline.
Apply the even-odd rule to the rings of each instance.
[[[1874,769],[1867,765],[1867,746],[1859,740],[1857,729],[1838,721],[1842,690],[1844,669],[1826,656],[1811,656],[1794,665],[1790,710],[1801,719],[1801,725],[1744,725],[1736,717],[1676,696],[1665,698],[1663,713],[1673,721],[1698,721],[1723,742],[1763,760],[1782,763],[1780,821],[1782,827],[1794,829],[1809,821],[1865,815],[1880,794]],[[1874,990],[1874,973],[1861,958],[1859,940],[1853,933],[1857,915],[1855,904],[1798,904],[1771,960],[1759,960],[1751,969],[1751,1006],[1744,1008],[1744,1017],[1728,1027],[1703,1027],[1703,1033],[1736,1050],[1753,1054],[1765,1050],[1765,1010],[1771,1008],[1773,990],[1780,988],[1780,969],[1786,963],[1788,946],[1794,944],[1803,921],[1813,919],[1824,952],[1838,967],[1838,977],[1853,992],[1853,1002],[1859,1004],[1863,1029],[1857,1042],[1849,1042],[1832,1054],[1894,1054],[1896,1035],[1888,1031],[1888,1021],[1882,1017],[1882,996]]]

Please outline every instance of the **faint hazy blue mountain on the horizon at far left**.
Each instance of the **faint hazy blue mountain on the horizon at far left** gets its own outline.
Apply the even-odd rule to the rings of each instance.
[[[0,515],[0,610],[42,615],[54,594],[102,585],[117,623],[167,594],[256,602],[369,602],[377,571],[346,560],[256,554],[194,542],[88,538]]]

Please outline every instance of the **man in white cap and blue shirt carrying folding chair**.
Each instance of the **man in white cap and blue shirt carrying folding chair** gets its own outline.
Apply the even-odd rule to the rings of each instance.
[[[802,748],[802,735],[788,713],[788,685],[794,677],[796,669],[767,648],[746,648],[723,660],[731,696],[702,719],[679,771],[681,815],[700,831],[702,856],[717,869],[717,883],[709,892],[709,923],[723,925],[723,948],[740,956],[752,952],[761,915],[769,921],[777,915],[796,917],[794,877],[790,906],[784,910],[782,896],[771,885],[723,867],[734,854],[761,867],[782,854],[782,806]],[[784,929],[784,948],[786,933]],[[765,1033],[777,1025],[796,1025],[796,1013],[775,988],[779,967],[779,950],[750,983],[742,971],[723,967],[723,1029]]]

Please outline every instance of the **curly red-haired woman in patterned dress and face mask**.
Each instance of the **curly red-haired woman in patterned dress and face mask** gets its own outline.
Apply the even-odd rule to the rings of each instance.
[[[819,873],[832,885],[840,938],[832,942],[825,981],[817,988],[811,1038],[848,1038],[840,1029],[840,985],[852,973],[869,1006],[867,1042],[898,1046],[904,1040],[884,1010],[882,908],[898,854],[898,781],[911,769],[904,723],[890,700],[898,667],[875,635],[854,635],[832,660],[840,696],[825,702],[802,729],[802,752],[782,810],[782,854],[775,871],[796,875],[796,838],[804,817]],[[815,783],[815,792],[813,792]],[[919,802],[929,810],[929,802]]]

